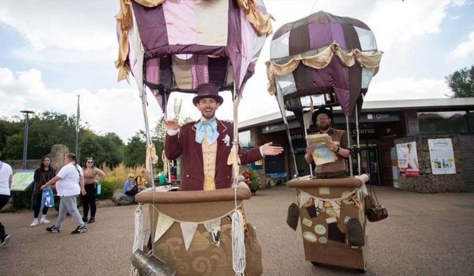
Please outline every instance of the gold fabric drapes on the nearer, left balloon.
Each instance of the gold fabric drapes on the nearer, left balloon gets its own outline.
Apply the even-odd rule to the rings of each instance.
[[[135,0],[138,4],[145,7],[156,7],[163,4],[166,0]],[[179,3],[179,0],[173,0]],[[265,34],[268,36],[273,33],[271,27],[271,19],[275,20],[271,14],[262,15],[257,11],[257,3],[255,0],[237,0],[237,4],[240,8],[245,10],[245,16],[254,26],[255,31],[259,35]],[[115,61],[115,67],[119,69],[118,81],[126,79],[128,82],[128,73],[130,72],[130,66],[125,62],[127,60],[129,45],[128,45],[128,30],[132,22],[132,1],[131,0],[120,0],[120,11],[115,18],[119,23],[120,37],[119,37],[119,58]]]

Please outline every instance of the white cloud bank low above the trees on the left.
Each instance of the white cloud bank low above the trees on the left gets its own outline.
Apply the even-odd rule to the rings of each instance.
[[[38,112],[54,110],[68,115],[76,113],[77,95],[81,100],[81,121],[88,122],[96,132],[114,132],[125,140],[139,129],[144,129],[141,100],[136,89],[99,89],[90,92],[78,89],[65,92],[47,88],[36,69],[13,73],[0,68],[0,115],[20,115],[23,109]],[[152,97],[148,115],[154,126],[160,111]]]

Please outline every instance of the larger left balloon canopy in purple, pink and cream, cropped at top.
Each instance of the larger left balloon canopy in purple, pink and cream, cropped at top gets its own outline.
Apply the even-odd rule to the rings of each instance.
[[[194,93],[201,83],[222,91],[232,90],[235,82],[242,93],[272,32],[272,17],[261,0],[156,0],[154,6],[152,0],[131,0],[129,6],[127,1],[116,16],[120,44],[128,40],[130,48],[123,69],[120,54],[116,61],[119,80],[131,71],[140,92],[144,81],[162,107],[163,92]],[[129,14],[123,12],[127,8]]]

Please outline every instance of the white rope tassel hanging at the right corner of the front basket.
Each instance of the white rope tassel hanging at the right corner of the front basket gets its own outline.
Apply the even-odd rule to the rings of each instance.
[[[236,209],[232,214],[232,267],[236,276],[244,276],[246,265],[244,238],[243,215]]]

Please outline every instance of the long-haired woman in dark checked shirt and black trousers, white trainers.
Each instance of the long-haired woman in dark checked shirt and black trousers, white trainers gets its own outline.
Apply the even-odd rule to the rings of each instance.
[[[41,165],[38,169],[34,171],[34,197],[36,202],[34,203],[34,216],[33,222],[30,224],[30,227],[38,226],[40,224],[48,224],[50,221],[46,218],[48,213],[48,207],[43,206],[43,212],[41,215],[41,220],[38,221],[39,211],[41,209],[41,199],[43,196],[43,191],[41,186],[50,181],[54,176],[56,176],[56,170],[50,168],[51,159],[48,156],[43,156],[41,158]]]

